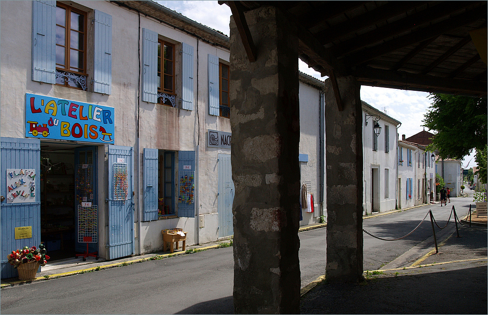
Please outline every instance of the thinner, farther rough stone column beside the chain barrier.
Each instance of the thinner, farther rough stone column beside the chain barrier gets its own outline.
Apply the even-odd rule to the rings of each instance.
[[[325,81],[326,277],[356,282],[363,279],[360,85],[353,77],[337,78],[343,106],[339,111],[330,81]]]

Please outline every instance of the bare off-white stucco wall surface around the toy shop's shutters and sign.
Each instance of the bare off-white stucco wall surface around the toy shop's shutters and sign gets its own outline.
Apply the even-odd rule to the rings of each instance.
[[[1,54],[0,54],[0,126],[2,137],[23,138],[25,134],[25,93],[39,94],[100,104],[115,109],[115,145],[134,148],[134,235],[135,253],[162,250],[161,230],[182,228],[187,231],[187,245],[207,243],[217,240],[217,155],[230,154],[230,149],[207,147],[207,130],[230,132],[230,120],[208,114],[208,54],[229,62],[230,53],[226,48],[198,40],[196,37],[156,21],[144,14],[128,10],[108,1],[72,1],[74,5],[88,12],[88,21],[93,10],[100,10],[112,16],[112,94],[102,95],[90,92],[91,77],[88,77],[87,91],[81,91],[53,84],[41,84],[31,80],[32,45],[32,2],[1,1]],[[26,18],[27,17],[27,18]],[[88,23],[88,74],[92,74],[92,34]],[[157,32],[176,45],[176,52],[185,42],[193,46],[193,90],[194,110],[188,111],[142,101],[141,65],[142,28]],[[198,60],[197,60],[198,58]],[[181,93],[181,55],[175,54],[176,92]],[[300,153],[308,154],[309,162],[301,163],[302,180],[312,183],[316,212],[304,213],[300,225],[319,222],[318,207],[318,150],[319,150],[319,89],[300,83]],[[179,99],[179,97],[177,97]],[[179,107],[179,106],[177,106]],[[264,110],[264,109],[262,109]],[[257,113],[259,114],[259,113]],[[231,113],[233,115],[233,113]],[[233,116],[237,119],[236,116]],[[323,119],[323,117],[322,117]],[[83,144],[83,143],[77,143]],[[144,148],[164,150],[195,150],[195,218],[168,218],[142,222],[144,196]],[[98,187],[99,187],[99,253],[106,257],[105,244],[106,203],[108,178],[106,174],[105,145],[98,146]],[[175,160],[177,161],[177,153]],[[177,169],[177,166],[176,166]],[[323,170],[322,170],[323,171]],[[325,177],[325,174],[324,174]],[[177,178],[177,177],[176,177]],[[177,181],[176,181],[177,182]],[[177,184],[177,183],[175,183]],[[176,189],[177,191],[177,189]],[[176,196],[177,198],[177,196]],[[297,210],[298,211],[298,210]],[[204,217],[204,227],[199,228],[198,215]]]

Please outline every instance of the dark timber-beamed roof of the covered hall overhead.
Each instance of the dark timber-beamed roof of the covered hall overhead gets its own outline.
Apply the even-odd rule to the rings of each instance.
[[[270,5],[295,22],[299,58],[324,76],[352,75],[361,85],[487,97],[487,1],[219,3],[230,6],[241,38],[247,37],[248,56],[254,42],[244,12]]]

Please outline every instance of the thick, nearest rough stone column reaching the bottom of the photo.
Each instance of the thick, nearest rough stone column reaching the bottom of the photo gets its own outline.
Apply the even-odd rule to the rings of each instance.
[[[298,314],[298,40],[274,7],[246,13],[250,63],[231,19],[236,314]]]

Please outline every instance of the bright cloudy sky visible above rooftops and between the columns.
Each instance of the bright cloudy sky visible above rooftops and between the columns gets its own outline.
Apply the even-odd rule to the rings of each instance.
[[[174,10],[187,18],[221,31],[229,36],[229,21],[232,15],[231,9],[217,1],[155,1]],[[298,61],[299,70],[313,76],[321,81],[326,77],[309,68],[306,63]],[[400,138],[402,134],[410,137],[422,130],[422,120],[431,102],[428,99],[429,93],[406,91],[382,87],[361,86],[361,100],[369,105],[386,112],[390,117],[402,122],[398,129]],[[429,131],[429,130],[427,130]],[[468,165],[469,160],[471,162]],[[474,152],[466,156],[462,163],[463,167],[476,166],[474,162]]]

